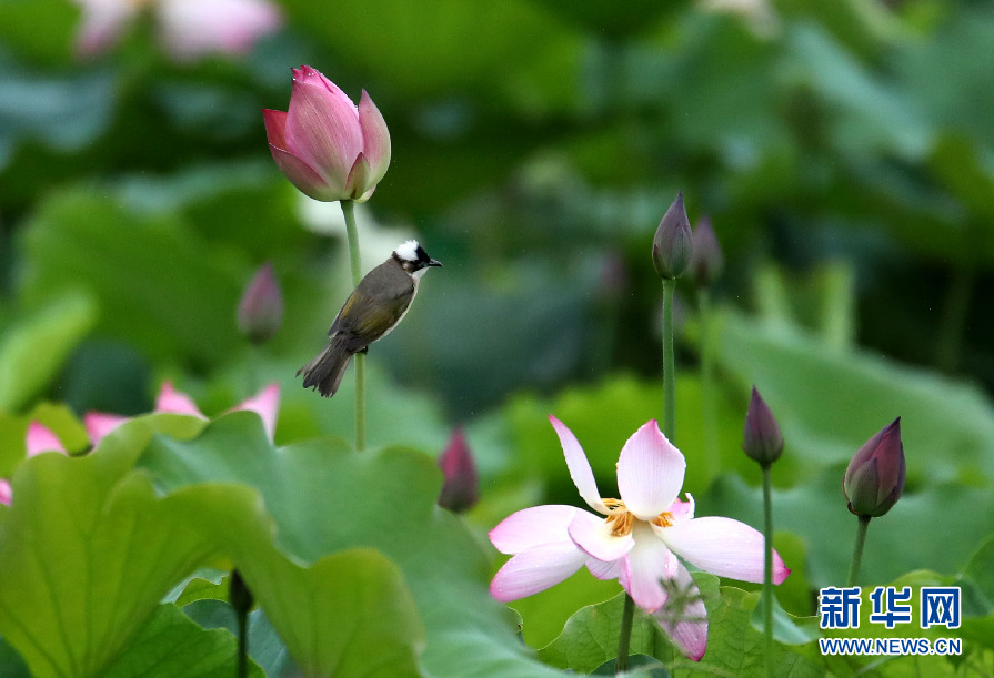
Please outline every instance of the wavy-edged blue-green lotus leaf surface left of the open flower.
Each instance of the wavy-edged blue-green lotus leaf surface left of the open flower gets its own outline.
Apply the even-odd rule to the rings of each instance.
[[[424,621],[425,672],[548,674],[528,658],[506,609],[490,597],[481,545],[435,506],[441,475],[432,459],[399,447],[357,453],[339,438],[275,448],[257,417],[233,413],[194,441],[158,437],[141,464],[169,488],[214,482],[257,488],[275,518],[278,547],[305,561],[349,548],[385,554],[403,571]],[[338,567],[334,558],[315,567]],[[258,565],[240,567],[249,568],[251,586],[262,583],[263,573],[252,569]]]

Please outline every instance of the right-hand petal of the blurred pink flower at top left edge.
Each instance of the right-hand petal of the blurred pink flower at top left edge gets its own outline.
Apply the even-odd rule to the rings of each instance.
[[[244,54],[282,23],[267,0],[159,0],[155,12],[162,42],[179,60]]]

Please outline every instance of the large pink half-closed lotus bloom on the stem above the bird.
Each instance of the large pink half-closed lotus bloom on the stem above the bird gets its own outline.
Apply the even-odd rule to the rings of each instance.
[[[309,65],[293,69],[287,112],[262,119],[277,166],[314,200],[364,202],[390,165],[390,132],[365,90],[357,107]]]

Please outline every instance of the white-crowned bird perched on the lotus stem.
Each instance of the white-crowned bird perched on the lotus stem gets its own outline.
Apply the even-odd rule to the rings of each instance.
[[[418,294],[421,276],[442,262],[428,255],[416,240],[401,243],[385,262],[365,274],[342,304],[328,330],[331,343],[307,365],[304,388],[317,389],[324,397],[333,396],[342,375],[357,353],[383,338],[404,318]]]

